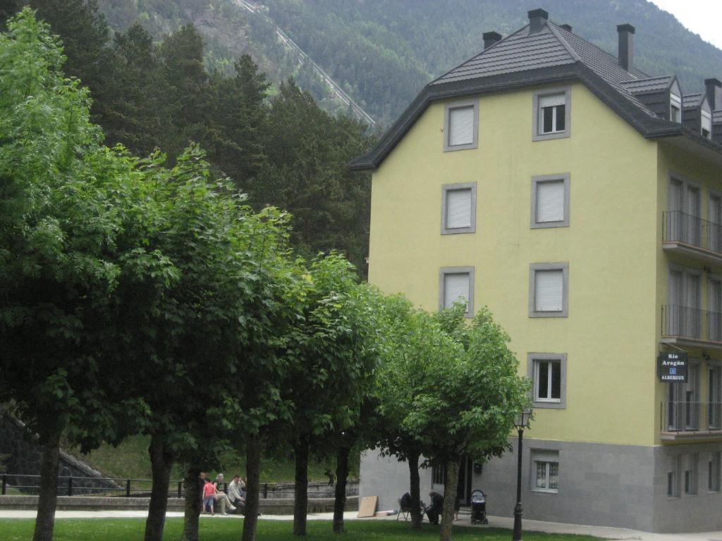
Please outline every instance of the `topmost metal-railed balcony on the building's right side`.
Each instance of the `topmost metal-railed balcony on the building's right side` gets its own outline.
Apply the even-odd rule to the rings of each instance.
[[[722,225],[682,211],[663,212],[662,248],[722,265]]]

